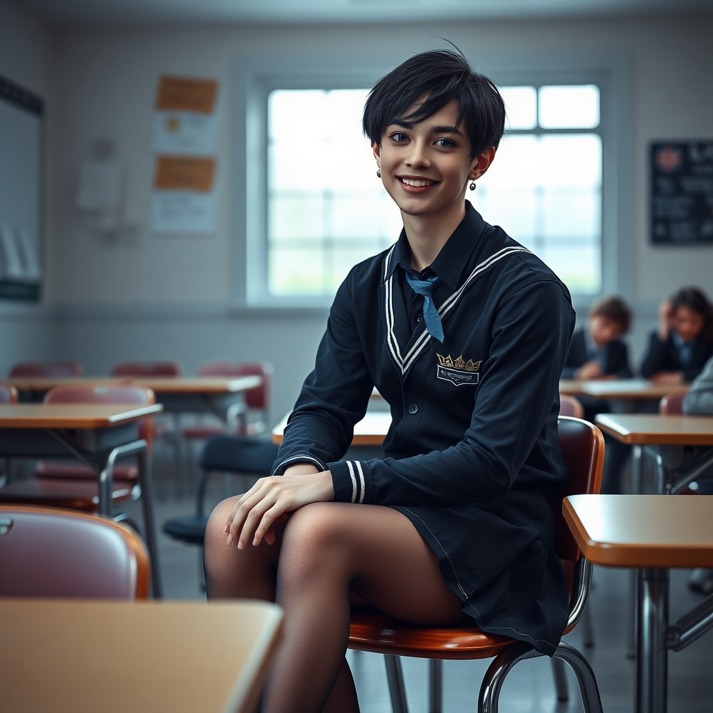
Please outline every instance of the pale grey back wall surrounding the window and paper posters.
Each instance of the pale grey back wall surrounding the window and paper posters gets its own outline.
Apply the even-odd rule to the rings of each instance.
[[[681,284],[712,292],[713,247],[665,248],[647,242],[647,145],[660,138],[710,138],[713,130],[713,19],[583,19],[389,26],[78,29],[58,32],[56,165],[52,185],[56,245],[51,295],[59,309],[58,356],[103,373],[126,357],[173,357],[188,371],[211,358],[263,358],[276,369],[278,418],[309,371],[323,312],[251,314],[230,309],[231,207],[235,103],[240,58],[360,58],[410,53],[446,37],[487,71],[511,54],[583,56],[616,53],[631,70],[630,240],[637,320],[634,341],[655,318],[655,304]],[[0,43],[1,44],[1,43]],[[153,158],[150,119],[162,73],[220,80],[220,209],[212,237],[158,237],[143,231],[136,245],[106,245],[73,214],[81,161],[96,138],[116,141],[128,175],[129,217],[148,226]],[[487,216],[486,216],[487,220]]]

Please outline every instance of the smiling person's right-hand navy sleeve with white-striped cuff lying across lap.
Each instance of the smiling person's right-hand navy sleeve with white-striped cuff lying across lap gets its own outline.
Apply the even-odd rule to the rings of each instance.
[[[329,463],[334,499],[458,506],[504,495],[553,414],[573,326],[559,284],[515,288],[496,311],[491,351],[461,441],[401,460]]]

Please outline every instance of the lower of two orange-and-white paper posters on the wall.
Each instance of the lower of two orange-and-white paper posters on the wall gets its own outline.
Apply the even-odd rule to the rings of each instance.
[[[153,232],[215,229],[215,159],[158,156],[151,196]]]

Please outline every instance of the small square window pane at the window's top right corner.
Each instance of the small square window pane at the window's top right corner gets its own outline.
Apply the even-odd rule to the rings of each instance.
[[[539,121],[544,129],[593,129],[599,125],[595,84],[540,87]]]

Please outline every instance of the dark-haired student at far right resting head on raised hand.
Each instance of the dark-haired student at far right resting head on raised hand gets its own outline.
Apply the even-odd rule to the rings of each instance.
[[[712,305],[702,290],[684,287],[661,303],[659,321],[641,375],[672,386],[693,381],[713,356]]]

